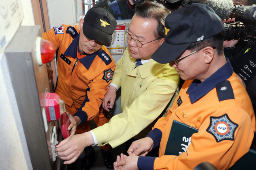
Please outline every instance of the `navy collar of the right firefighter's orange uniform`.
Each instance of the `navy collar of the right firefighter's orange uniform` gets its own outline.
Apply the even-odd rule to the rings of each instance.
[[[209,91],[215,88],[216,84],[230,78],[230,76],[233,74],[233,68],[230,64],[230,60],[228,58],[226,58],[226,60],[227,62],[225,65],[223,65],[202,83],[200,83],[199,80],[194,80],[191,83],[187,92],[192,104],[209,93]]]

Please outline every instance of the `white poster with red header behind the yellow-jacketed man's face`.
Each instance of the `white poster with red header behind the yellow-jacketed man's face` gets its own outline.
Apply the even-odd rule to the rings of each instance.
[[[110,54],[123,54],[125,44],[125,30],[126,25],[117,25],[113,36],[111,45],[108,48]]]

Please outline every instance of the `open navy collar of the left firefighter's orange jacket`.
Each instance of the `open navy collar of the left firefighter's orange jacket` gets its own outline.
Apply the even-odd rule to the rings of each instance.
[[[79,37],[80,37],[80,33],[74,38],[74,40],[72,41],[72,43],[68,46],[67,50],[64,52],[64,55],[66,56],[70,56],[73,58],[77,58],[77,46],[79,43]],[[101,49],[100,49],[101,50]],[[81,59],[79,59],[79,61],[87,68],[90,68],[90,65],[92,64],[92,62],[94,61],[94,58],[97,56],[98,52],[100,51],[95,51],[93,54],[89,54],[86,57],[83,57]]]

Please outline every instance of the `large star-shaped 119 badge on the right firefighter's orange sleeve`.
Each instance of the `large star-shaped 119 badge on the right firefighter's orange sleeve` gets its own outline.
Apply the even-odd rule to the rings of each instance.
[[[230,120],[227,114],[220,117],[210,117],[210,125],[207,128],[207,132],[215,137],[216,142],[223,140],[234,140],[234,134],[238,127],[237,123]]]

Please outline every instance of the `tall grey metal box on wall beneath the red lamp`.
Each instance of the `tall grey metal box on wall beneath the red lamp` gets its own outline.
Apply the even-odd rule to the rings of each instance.
[[[46,65],[36,60],[38,36],[40,26],[20,26],[4,53],[33,169],[53,170],[60,168],[54,152],[58,125],[46,118],[49,81]]]

